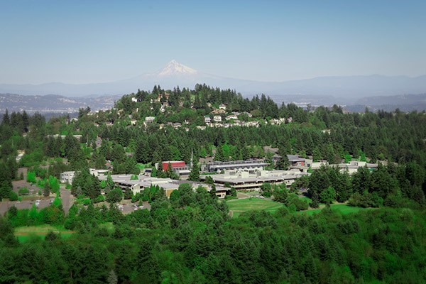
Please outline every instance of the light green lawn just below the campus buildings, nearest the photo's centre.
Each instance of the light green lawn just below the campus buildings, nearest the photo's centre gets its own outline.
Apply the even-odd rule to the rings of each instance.
[[[241,212],[250,210],[265,210],[275,212],[278,208],[283,207],[283,204],[271,200],[263,200],[257,197],[245,198],[242,200],[229,200],[226,202],[229,210],[233,212],[233,217],[239,216]]]

